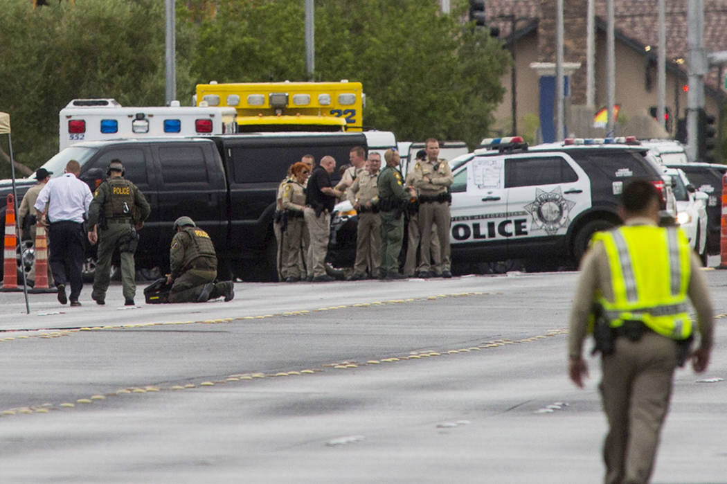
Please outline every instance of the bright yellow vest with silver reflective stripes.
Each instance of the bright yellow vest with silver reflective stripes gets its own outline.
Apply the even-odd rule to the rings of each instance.
[[[691,335],[686,306],[691,247],[678,227],[624,225],[593,235],[602,242],[614,301],[598,294],[612,328],[624,320],[640,320],[654,332],[672,339]]]

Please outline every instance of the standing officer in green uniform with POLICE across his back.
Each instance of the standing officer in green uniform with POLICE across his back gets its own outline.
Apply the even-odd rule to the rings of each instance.
[[[134,252],[139,244],[137,230],[144,225],[151,209],[141,190],[124,178],[121,161],[111,160],[106,174],[108,178],[96,189],[89,206],[89,242],[98,241],[91,298],[97,304],[105,304],[111,257],[113,251],[119,249],[124,305],[133,306],[136,294]]]

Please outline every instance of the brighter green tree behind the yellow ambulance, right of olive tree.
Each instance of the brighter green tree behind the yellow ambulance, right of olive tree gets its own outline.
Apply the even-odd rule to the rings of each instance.
[[[463,25],[467,2],[441,15],[435,0],[317,0],[316,80],[361,81],[364,124],[401,140],[488,132],[509,54]],[[220,0],[201,22],[192,61],[200,82],[305,80],[302,0]]]

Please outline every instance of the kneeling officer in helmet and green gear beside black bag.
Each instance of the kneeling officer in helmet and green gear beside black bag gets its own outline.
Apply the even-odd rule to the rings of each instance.
[[[169,249],[172,284],[169,302],[205,302],[220,296],[225,301],[235,297],[232,281],[213,283],[217,278],[217,253],[209,235],[198,228],[190,217],[174,221],[174,238]]]

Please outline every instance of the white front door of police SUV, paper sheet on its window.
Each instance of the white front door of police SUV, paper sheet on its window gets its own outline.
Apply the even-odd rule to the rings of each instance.
[[[450,207],[452,246],[457,252],[479,251],[486,259],[505,256],[507,221],[501,157],[475,157],[454,171]],[[475,256],[476,257],[476,256]]]

